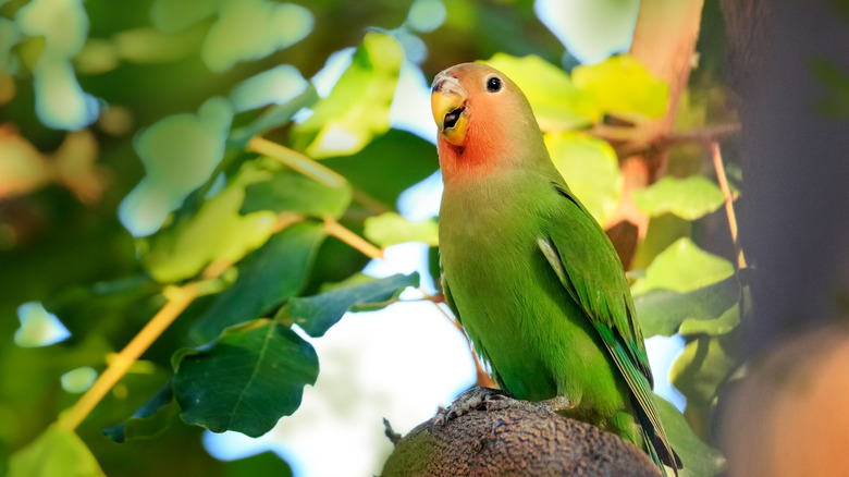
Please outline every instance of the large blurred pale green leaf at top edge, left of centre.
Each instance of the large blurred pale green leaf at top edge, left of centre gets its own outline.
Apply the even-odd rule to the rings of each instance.
[[[239,61],[258,60],[300,41],[313,23],[309,10],[294,3],[222,0],[201,58],[210,70],[220,73]]]

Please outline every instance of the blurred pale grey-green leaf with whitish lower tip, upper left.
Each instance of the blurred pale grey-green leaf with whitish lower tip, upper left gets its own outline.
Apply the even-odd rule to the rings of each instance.
[[[121,203],[121,222],[134,235],[156,232],[186,196],[204,184],[224,156],[233,118],[230,101],[214,97],[197,114],[168,117],[136,138],[147,175]]]

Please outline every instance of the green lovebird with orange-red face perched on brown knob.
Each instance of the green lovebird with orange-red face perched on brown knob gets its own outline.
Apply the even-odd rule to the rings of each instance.
[[[431,107],[443,292],[493,379],[677,474],[622,262],[554,167],[525,95],[464,63],[435,76]]]

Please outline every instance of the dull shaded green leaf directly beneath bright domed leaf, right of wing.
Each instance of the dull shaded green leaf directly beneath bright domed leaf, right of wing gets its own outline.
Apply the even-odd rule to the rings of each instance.
[[[741,289],[737,276],[691,292],[653,289],[633,296],[637,316],[644,337],[728,332],[736,326],[726,315],[734,315]],[[737,313],[739,321],[739,313]],[[686,327],[682,326],[686,323]],[[730,328],[729,328],[730,327]]]

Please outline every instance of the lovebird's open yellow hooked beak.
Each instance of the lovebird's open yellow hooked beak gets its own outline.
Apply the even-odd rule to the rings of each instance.
[[[439,126],[439,134],[448,143],[460,146],[469,125],[466,110],[468,94],[459,82],[451,76],[436,75],[430,95],[430,107],[433,120]]]

